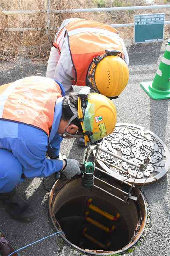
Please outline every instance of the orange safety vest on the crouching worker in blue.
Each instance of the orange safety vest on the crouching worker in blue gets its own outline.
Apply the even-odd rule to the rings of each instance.
[[[49,136],[54,107],[62,97],[60,86],[52,79],[26,77],[0,86],[0,119],[29,124]]]

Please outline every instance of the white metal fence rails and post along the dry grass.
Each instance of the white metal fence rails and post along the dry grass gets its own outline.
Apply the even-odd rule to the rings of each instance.
[[[47,13],[46,19],[46,34],[48,35],[49,30],[57,30],[58,28],[50,28],[50,13],[70,13],[70,12],[111,12],[111,11],[128,11],[128,10],[149,10],[149,9],[163,9],[170,8],[170,4],[166,5],[148,5],[148,6],[129,6],[129,7],[108,7],[108,8],[88,8],[88,9],[67,9],[67,10],[50,10],[51,0],[46,0],[46,10],[32,10],[32,11],[5,11],[2,13],[5,15],[19,15],[19,14],[36,14],[36,13]],[[170,24],[170,21],[165,21],[165,24]],[[110,24],[111,27],[132,27],[133,23],[125,24]],[[41,28],[5,28],[5,31],[26,31],[26,30],[41,30]]]

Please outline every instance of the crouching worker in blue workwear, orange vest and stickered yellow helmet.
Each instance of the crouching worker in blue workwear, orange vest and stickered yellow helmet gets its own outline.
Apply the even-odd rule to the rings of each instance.
[[[14,219],[36,216],[15,193],[17,184],[59,171],[67,179],[81,173],[77,160],[58,159],[63,138],[84,136],[87,145],[113,132],[114,104],[89,91],[64,96],[62,84],[39,76],[0,86],[0,201]]]

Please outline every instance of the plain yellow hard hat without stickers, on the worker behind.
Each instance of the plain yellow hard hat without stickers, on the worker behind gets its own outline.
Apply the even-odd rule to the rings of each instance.
[[[94,58],[87,75],[87,83],[97,93],[117,98],[129,79],[129,69],[121,52],[105,50],[106,53]]]

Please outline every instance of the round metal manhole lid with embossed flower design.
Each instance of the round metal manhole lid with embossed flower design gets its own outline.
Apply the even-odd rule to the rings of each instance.
[[[165,143],[156,134],[139,125],[116,124],[114,132],[102,141],[101,148],[136,164],[141,164],[146,156],[150,158],[146,170],[138,172],[135,180],[136,185],[142,185],[144,182],[149,184],[159,180],[165,175],[170,166],[170,155]],[[95,155],[95,150],[93,150],[93,154]],[[137,167],[102,151],[100,151],[98,158],[128,171],[130,177],[125,172],[97,160],[100,167],[115,178],[133,183],[138,171]]]

